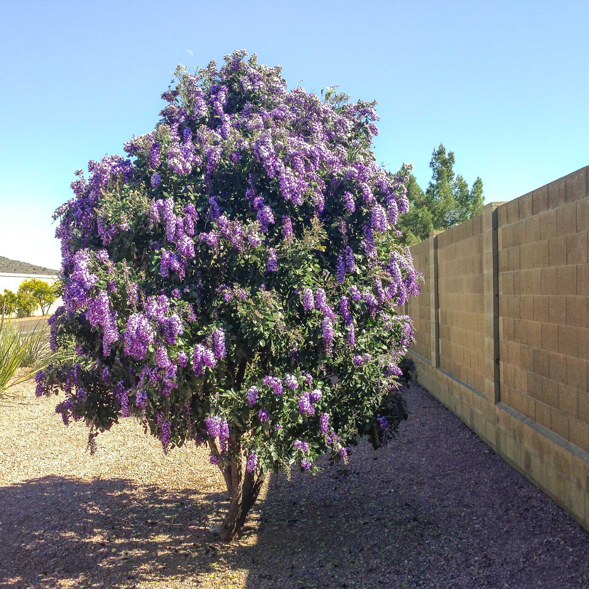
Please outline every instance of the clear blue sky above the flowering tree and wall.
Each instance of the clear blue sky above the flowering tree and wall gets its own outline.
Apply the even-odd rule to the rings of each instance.
[[[379,101],[378,160],[432,150],[509,200],[589,164],[587,2],[0,2],[0,256],[59,267],[51,214],[150,131],[178,63],[233,49]],[[192,51],[190,55],[188,51]]]

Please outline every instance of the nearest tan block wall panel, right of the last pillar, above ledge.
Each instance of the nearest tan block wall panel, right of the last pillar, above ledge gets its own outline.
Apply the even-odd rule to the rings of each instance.
[[[589,452],[585,169],[497,209],[501,401]]]

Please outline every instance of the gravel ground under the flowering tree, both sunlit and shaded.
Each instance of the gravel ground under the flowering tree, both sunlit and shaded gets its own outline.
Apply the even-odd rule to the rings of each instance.
[[[200,449],[131,420],[69,428],[34,385],[0,406],[0,587],[589,587],[589,535],[419,386],[401,439],[272,479],[244,538]]]

